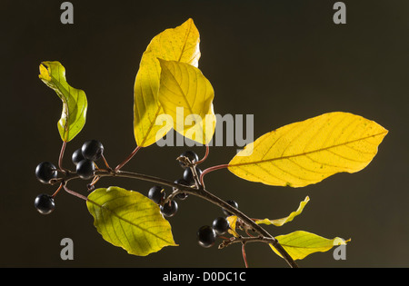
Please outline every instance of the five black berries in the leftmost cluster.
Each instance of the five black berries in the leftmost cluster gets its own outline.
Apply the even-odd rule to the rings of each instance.
[[[91,179],[95,173],[95,161],[104,153],[104,146],[97,140],[90,140],[73,153],[72,160],[76,165],[76,173],[82,179]],[[42,162],[35,168],[38,181],[50,183],[57,179],[58,169],[53,163]],[[35,197],[35,209],[42,214],[48,214],[55,209],[54,197],[41,193]]]

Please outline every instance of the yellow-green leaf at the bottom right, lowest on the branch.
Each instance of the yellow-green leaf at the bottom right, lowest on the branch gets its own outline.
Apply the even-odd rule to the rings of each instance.
[[[284,250],[295,260],[304,259],[309,254],[314,252],[329,251],[334,246],[346,245],[342,238],[335,237],[334,239],[326,239],[322,236],[311,232],[297,231],[284,235],[278,235],[275,239],[283,246]],[[273,245],[270,244],[271,249],[279,256]]]

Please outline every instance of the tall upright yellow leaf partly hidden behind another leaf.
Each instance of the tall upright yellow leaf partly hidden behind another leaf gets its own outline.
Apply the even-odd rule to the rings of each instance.
[[[172,128],[155,124],[156,118],[163,113],[157,100],[161,74],[157,58],[197,66],[200,58],[199,42],[199,32],[194,21],[188,19],[183,25],[156,35],[147,46],[134,87],[134,133],[138,146],[146,147],[155,143]]]

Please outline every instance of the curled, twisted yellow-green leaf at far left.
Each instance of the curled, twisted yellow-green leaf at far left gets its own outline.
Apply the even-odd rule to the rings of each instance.
[[[85,92],[70,86],[65,79],[65,67],[59,62],[43,62],[40,64],[38,77],[63,101],[63,112],[57,127],[61,139],[71,141],[85,125],[88,107]]]

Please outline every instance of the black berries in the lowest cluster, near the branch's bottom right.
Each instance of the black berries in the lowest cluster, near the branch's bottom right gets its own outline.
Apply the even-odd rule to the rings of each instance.
[[[230,205],[234,206],[234,208],[238,208],[238,203],[232,200],[226,201]],[[229,222],[227,221],[226,217],[232,215],[232,213],[227,212],[226,210],[222,210],[224,213],[224,217],[220,216],[215,218],[212,225],[204,225],[197,231],[197,242],[199,242],[200,246],[205,248],[212,247],[218,235],[222,235],[227,232],[230,228]]]

